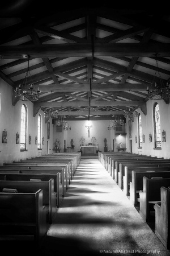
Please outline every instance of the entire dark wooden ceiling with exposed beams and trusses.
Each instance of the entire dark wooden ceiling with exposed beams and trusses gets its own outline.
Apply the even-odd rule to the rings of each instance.
[[[147,86],[160,81],[159,73],[170,83],[165,11],[34,3],[0,12],[0,77],[12,87],[12,105],[30,56],[33,87],[40,89],[34,116],[39,109],[57,109],[68,120],[111,119],[127,108],[147,114]]]

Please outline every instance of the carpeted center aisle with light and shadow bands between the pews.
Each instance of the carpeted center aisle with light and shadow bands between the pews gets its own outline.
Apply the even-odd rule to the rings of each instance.
[[[82,158],[41,249],[42,256],[88,254],[169,255],[96,158]]]

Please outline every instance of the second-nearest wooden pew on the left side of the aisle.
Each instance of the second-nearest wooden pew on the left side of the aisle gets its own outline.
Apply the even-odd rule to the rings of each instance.
[[[54,192],[54,180],[49,181],[4,181],[0,182],[0,192],[3,188],[16,188],[19,193],[35,193],[42,189],[42,204],[46,206],[46,217],[49,224],[56,215],[56,193]]]

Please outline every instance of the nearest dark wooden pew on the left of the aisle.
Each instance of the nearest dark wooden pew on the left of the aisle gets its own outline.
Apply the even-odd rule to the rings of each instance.
[[[31,235],[40,247],[47,231],[42,196],[42,189],[32,193],[0,192],[0,234]]]

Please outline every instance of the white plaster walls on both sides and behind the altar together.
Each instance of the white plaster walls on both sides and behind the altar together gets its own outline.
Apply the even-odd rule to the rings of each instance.
[[[13,160],[20,160],[25,158],[30,158],[31,156],[37,156],[40,152],[42,155],[47,154],[47,124],[45,123],[44,112],[39,110],[36,117],[33,117],[33,104],[32,102],[18,101],[15,106],[12,106],[12,88],[5,81],[0,79],[0,93],[1,93],[1,108],[0,108],[0,164],[3,162],[11,163]],[[153,106],[154,103],[158,102],[160,108],[160,123],[161,123],[161,134],[164,130],[166,133],[166,142],[162,142],[162,150],[154,150],[154,128],[153,128]],[[25,103],[28,109],[28,131],[32,137],[32,144],[27,143],[28,151],[20,152],[20,144],[16,144],[15,137],[16,133],[20,134],[20,111],[22,104]],[[147,105],[147,115],[143,114],[140,108],[138,112],[141,113],[142,118],[142,134],[145,134],[145,143],[143,143],[142,149],[138,148],[138,143],[135,143],[135,135],[138,137],[138,127],[137,118],[134,118],[132,122],[132,148],[133,153],[151,155],[164,157],[165,159],[170,158],[170,106],[165,104],[163,100],[149,100]],[[42,145],[42,151],[37,150],[37,145],[35,144],[35,136],[37,135],[37,119],[38,115],[42,116],[42,137],[44,137],[45,144]],[[54,144],[56,139],[59,138],[61,142],[61,152],[63,152],[63,141],[66,140],[66,146],[70,147],[70,141],[73,139],[75,145],[75,152],[80,150],[80,138],[84,137],[86,139],[85,144],[91,142],[91,138],[96,138],[96,144],[99,144],[99,150],[104,151],[104,138],[107,138],[108,149],[113,149],[113,139],[116,142],[126,141],[126,151],[130,152],[129,144],[129,131],[128,131],[128,119],[125,123],[125,133],[126,137],[118,137],[114,134],[114,130],[108,130],[107,126],[109,121],[69,121],[71,126],[71,131],[64,131],[62,133],[56,132],[56,125],[52,125],[52,119],[50,122],[50,139],[49,148],[50,153],[53,152]],[[86,126],[92,125],[90,129],[90,138],[88,138],[88,130]],[[7,131],[7,144],[2,143],[2,131],[6,129]],[[152,134],[152,142],[148,141],[149,133]],[[28,138],[27,138],[28,139]]]

